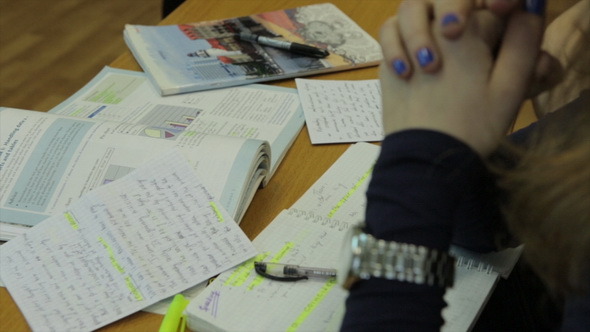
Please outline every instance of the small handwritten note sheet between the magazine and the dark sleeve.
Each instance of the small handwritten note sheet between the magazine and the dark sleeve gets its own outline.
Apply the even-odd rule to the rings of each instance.
[[[381,141],[378,80],[295,80],[313,144]]]

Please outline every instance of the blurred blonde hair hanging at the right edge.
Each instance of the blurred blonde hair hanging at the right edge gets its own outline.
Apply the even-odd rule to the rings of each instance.
[[[590,287],[590,110],[551,116],[498,185],[525,259],[555,295],[565,296]]]

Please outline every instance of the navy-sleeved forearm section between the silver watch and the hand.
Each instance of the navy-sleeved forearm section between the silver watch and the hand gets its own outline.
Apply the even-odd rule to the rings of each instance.
[[[453,240],[490,250],[490,229],[500,218],[494,189],[484,163],[462,142],[427,130],[393,134],[383,141],[367,192],[367,227],[386,240],[440,250]]]

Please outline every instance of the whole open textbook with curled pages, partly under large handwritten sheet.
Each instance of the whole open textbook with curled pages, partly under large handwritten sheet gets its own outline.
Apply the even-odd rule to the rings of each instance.
[[[0,238],[178,148],[240,221],[303,127],[294,89],[250,85],[161,97],[106,68],[50,113],[0,111]]]

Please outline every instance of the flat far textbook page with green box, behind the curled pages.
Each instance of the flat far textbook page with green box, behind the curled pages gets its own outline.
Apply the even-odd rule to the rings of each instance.
[[[265,183],[305,122],[295,89],[249,85],[162,97],[144,73],[109,67],[50,113],[141,124],[166,135],[186,130],[268,141]]]

